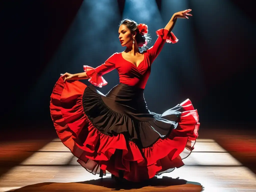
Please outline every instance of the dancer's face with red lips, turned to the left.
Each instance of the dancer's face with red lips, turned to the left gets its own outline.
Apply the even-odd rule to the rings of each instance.
[[[132,46],[133,36],[135,36],[135,33],[131,33],[130,29],[127,28],[126,25],[120,25],[118,34],[122,46]]]

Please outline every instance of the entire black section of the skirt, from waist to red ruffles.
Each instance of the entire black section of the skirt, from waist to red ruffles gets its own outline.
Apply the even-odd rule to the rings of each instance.
[[[147,109],[143,90],[125,84],[115,86],[106,96],[88,86],[83,94],[84,113],[101,133],[109,136],[123,134],[138,148],[152,146],[176,128],[182,106],[176,105],[165,113]]]

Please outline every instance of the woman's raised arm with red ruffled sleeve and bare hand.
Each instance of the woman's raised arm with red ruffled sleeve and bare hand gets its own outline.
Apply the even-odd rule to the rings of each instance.
[[[187,9],[184,11],[180,11],[177,13],[174,13],[170,21],[167,23],[164,29],[158,29],[156,31],[156,34],[158,36],[155,44],[147,50],[148,54],[150,55],[150,63],[156,59],[160,51],[162,50],[165,42],[167,43],[176,43],[178,42],[177,37],[172,32],[172,29],[176,23],[177,18],[188,18],[188,16],[192,16],[191,14],[188,14],[191,9]]]

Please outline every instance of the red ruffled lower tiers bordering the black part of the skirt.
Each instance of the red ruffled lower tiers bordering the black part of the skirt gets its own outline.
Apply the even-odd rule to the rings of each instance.
[[[99,132],[84,114],[82,95],[86,85],[63,82],[60,78],[51,95],[50,112],[60,140],[89,172],[106,170],[116,176],[124,170],[124,178],[133,182],[161,174],[167,169],[184,165],[182,159],[194,148],[198,137],[198,114],[190,100],[178,127],[168,138],[159,139],[153,146],[141,150],[133,143],[126,144],[123,134],[107,136]]]

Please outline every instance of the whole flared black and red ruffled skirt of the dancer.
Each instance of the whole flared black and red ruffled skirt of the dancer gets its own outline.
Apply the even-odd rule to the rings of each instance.
[[[92,174],[133,182],[184,165],[198,137],[198,113],[187,99],[163,114],[148,110],[144,89],[118,84],[104,95],[60,77],[50,101],[57,134]]]

